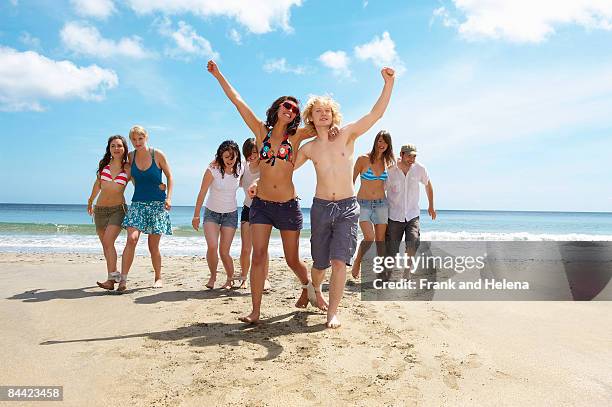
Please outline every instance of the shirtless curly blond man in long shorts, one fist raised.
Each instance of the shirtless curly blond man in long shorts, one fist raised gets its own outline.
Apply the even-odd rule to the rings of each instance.
[[[299,149],[295,169],[311,160],[317,174],[317,186],[310,209],[312,282],[314,303],[327,310],[327,327],[338,328],[338,305],[344,293],[346,266],[351,265],[357,248],[359,205],[353,188],[353,154],[355,140],[368,131],[384,114],[391,98],[394,70],[383,68],[385,81],[382,93],[372,110],[356,122],[340,128],[339,135],[328,138],[332,125],[340,125],[338,103],[324,96],[311,97],[304,109],[306,128],[316,130],[317,137]],[[329,304],[321,295],[325,270],[331,266]]]

